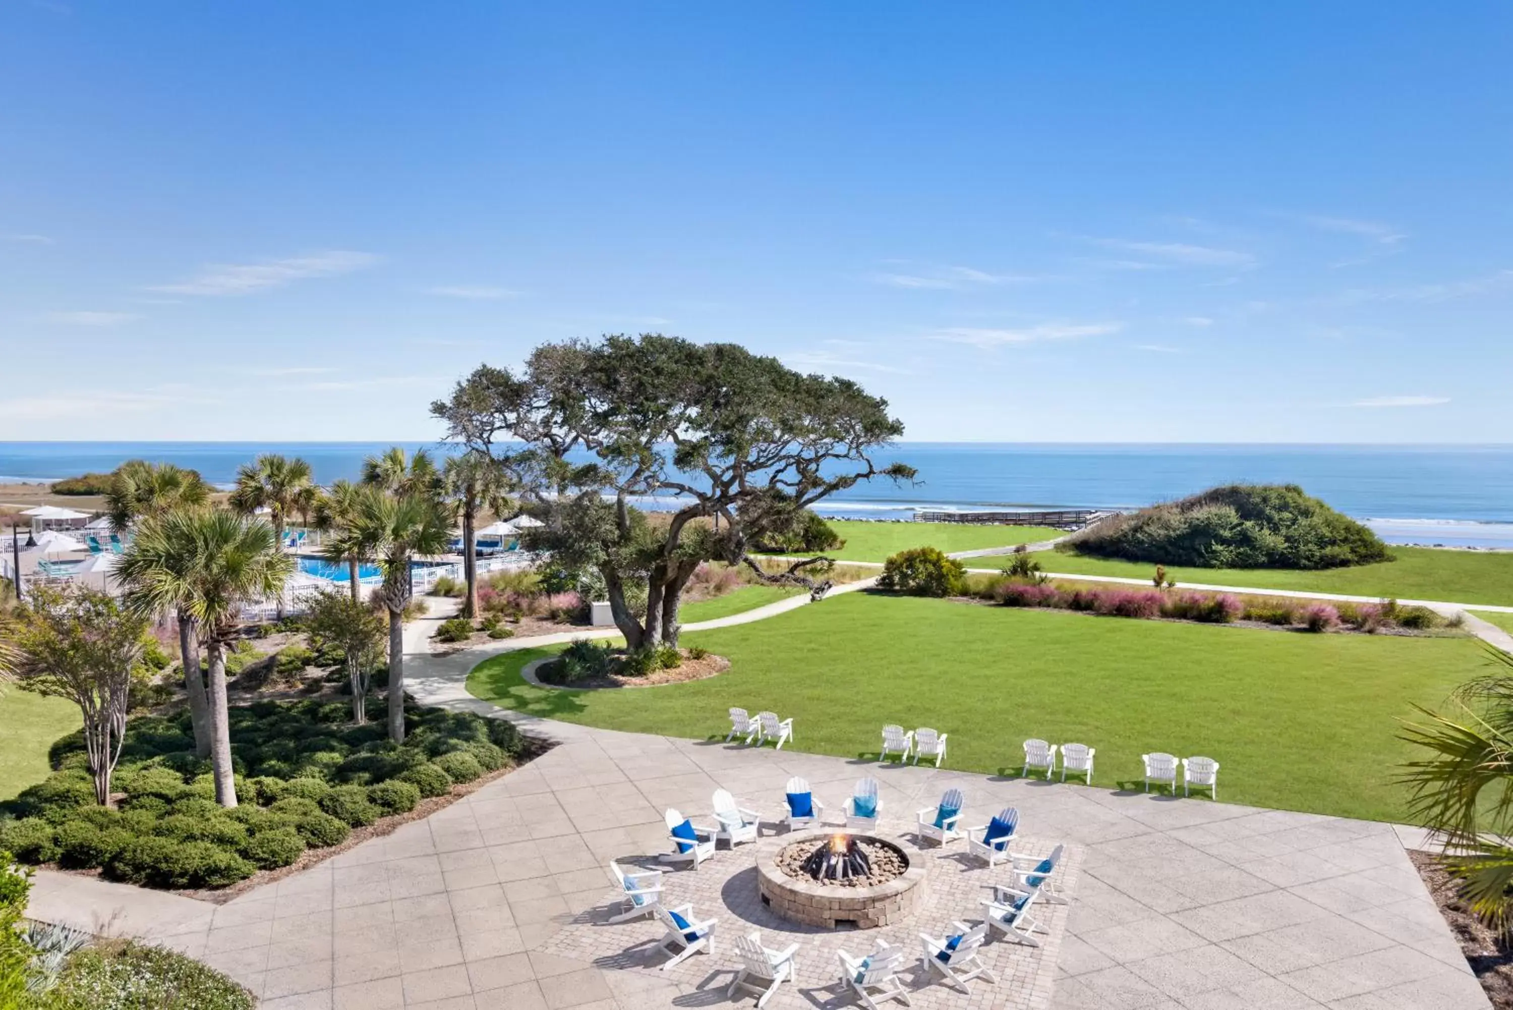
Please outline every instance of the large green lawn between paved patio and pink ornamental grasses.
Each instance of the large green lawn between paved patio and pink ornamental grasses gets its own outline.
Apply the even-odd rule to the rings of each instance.
[[[1486,666],[1460,637],[1304,634],[1095,618],[868,594],[684,636],[732,662],[690,684],[564,692],[525,684],[543,650],[481,663],[468,689],[589,725],[723,737],[726,709],[794,716],[797,748],[875,753],[884,722],[950,733],[952,768],[1012,774],[1030,736],[1097,747],[1097,784],[1139,756],[1207,754],[1221,798],[1398,819],[1398,718]],[[858,775],[864,774],[858,768]],[[970,800],[968,800],[970,801]]]

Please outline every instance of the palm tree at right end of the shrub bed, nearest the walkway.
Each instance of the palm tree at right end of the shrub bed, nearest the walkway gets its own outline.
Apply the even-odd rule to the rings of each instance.
[[[377,597],[389,610],[389,739],[404,742],[404,607],[410,603],[410,560],[440,554],[451,539],[442,504],[425,494],[386,494],[363,488],[339,541],[362,544],[383,572]],[[337,550],[337,548],[333,548]]]

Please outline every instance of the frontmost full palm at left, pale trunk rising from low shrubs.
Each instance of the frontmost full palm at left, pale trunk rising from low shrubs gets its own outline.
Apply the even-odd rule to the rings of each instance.
[[[186,563],[188,562],[188,563]],[[117,566],[141,613],[183,607],[200,625],[210,660],[210,766],[215,801],[236,806],[225,651],[244,604],[283,597],[295,563],[272,527],[231,512],[169,512],[142,522]]]

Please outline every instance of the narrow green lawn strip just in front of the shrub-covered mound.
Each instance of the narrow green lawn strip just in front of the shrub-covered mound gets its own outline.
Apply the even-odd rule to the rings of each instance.
[[[1395,547],[1392,553],[1396,560],[1327,571],[1168,566],[1167,577],[1218,586],[1513,606],[1513,554],[1443,551],[1431,547]],[[1077,575],[1150,578],[1156,572],[1156,566],[1147,562],[1083,557],[1070,551],[1042,551],[1035,559],[1045,571]]]

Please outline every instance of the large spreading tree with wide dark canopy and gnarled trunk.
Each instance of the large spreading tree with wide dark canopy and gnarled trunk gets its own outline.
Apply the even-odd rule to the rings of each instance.
[[[533,548],[596,566],[631,648],[678,644],[682,588],[704,560],[814,592],[808,571],[750,557],[803,509],[875,477],[912,480],[878,453],[903,433],[885,400],[849,379],[805,376],[735,344],[605,336],[543,344],[519,373],[483,365],[431,404],[448,438],[499,460],[545,527]],[[631,507],[673,495],[652,519]],[[645,613],[626,584],[645,583]]]

